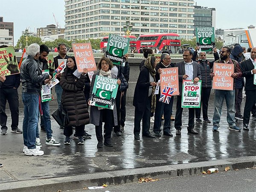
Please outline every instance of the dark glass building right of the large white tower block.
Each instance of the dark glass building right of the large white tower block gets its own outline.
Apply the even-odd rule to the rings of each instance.
[[[194,26],[196,27],[214,27],[216,29],[216,10],[202,6],[194,6]],[[194,31],[195,34],[195,31]]]

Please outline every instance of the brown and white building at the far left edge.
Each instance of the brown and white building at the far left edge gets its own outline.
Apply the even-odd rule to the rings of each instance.
[[[4,22],[3,17],[0,17],[0,45],[13,46],[13,22]]]

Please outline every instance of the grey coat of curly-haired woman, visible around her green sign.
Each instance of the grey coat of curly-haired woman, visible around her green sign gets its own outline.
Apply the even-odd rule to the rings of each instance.
[[[90,87],[90,99],[92,97],[92,93],[93,93],[93,85],[96,79],[96,75],[99,76],[99,71],[93,75],[93,79],[91,82],[91,87]],[[111,73],[111,77],[113,79],[116,79],[116,76]],[[89,101],[90,101],[89,99]],[[105,110],[105,109],[102,109]],[[114,117],[114,125],[117,126],[117,112],[116,112],[116,104],[113,108],[113,117]],[[90,106],[90,123],[96,126],[99,126],[99,122],[100,122],[100,110],[98,109],[98,107],[96,106]]]

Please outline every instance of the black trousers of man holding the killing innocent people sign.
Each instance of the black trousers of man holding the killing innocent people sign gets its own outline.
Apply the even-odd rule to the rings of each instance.
[[[182,111],[183,111],[183,108],[181,108],[181,96],[177,96],[176,115],[175,115],[175,122],[174,122],[175,129],[181,130]],[[187,127],[188,130],[195,127],[194,120],[195,120],[195,108],[189,108],[189,126]]]

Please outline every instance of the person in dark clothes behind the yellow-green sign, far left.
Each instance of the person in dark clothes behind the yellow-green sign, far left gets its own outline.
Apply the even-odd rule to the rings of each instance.
[[[8,47],[6,45],[0,46],[0,48]],[[18,87],[20,86],[20,73],[6,76],[6,80],[3,82],[0,89],[0,125],[1,135],[7,134],[7,115],[6,115],[6,101],[9,103],[11,116],[12,116],[12,133],[22,134],[22,131],[18,128],[19,125],[19,96]]]

